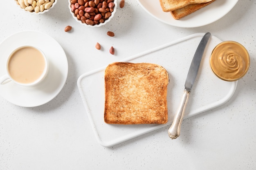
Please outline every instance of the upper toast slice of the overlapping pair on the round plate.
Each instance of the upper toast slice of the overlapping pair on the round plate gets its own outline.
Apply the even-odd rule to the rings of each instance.
[[[171,12],[180,9],[189,4],[201,4],[210,2],[212,0],[159,0],[162,10],[164,12]]]

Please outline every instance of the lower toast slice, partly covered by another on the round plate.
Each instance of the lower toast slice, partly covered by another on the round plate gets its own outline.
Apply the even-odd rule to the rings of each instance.
[[[206,2],[206,3],[201,3],[201,4],[190,4],[187,5],[185,7],[182,7],[180,9],[176,9],[174,11],[171,11],[171,14],[173,15],[173,18],[175,20],[179,20],[180,18],[185,17],[186,15],[189,15],[209,4],[211,4],[212,2],[214,2],[215,0],[212,0],[210,2]]]

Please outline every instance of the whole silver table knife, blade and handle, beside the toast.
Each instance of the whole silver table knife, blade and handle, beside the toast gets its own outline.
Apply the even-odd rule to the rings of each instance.
[[[171,139],[176,139],[177,137],[180,136],[180,127],[181,127],[182,120],[184,117],[186,105],[189,101],[189,94],[191,92],[193,83],[195,82],[195,78],[198,74],[202,56],[204,54],[204,49],[207,45],[207,42],[208,42],[210,36],[211,36],[211,33],[204,34],[202,40],[200,41],[200,43],[198,45],[198,48],[195,51],[194,57],[192,59],[191,65],[189,67],[188,75],[186,77],[186,82],[184,85],[185,86],[184,93],[182,95],[180,105],[175,113],[173,123],[168,130],[168,135]]]

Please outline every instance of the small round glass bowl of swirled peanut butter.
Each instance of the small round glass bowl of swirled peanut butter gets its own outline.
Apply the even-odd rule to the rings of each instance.
[[[247,73],[249,64],[249,54],[245,47],[233,41],[218,44],[210,59],[213,72],[226,81],[242,78]]]

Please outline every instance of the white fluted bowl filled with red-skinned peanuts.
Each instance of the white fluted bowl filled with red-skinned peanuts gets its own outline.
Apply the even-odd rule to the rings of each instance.
[[[99,27],[114,17],[117,0],[68,0],[70,13],[82,25]]]

